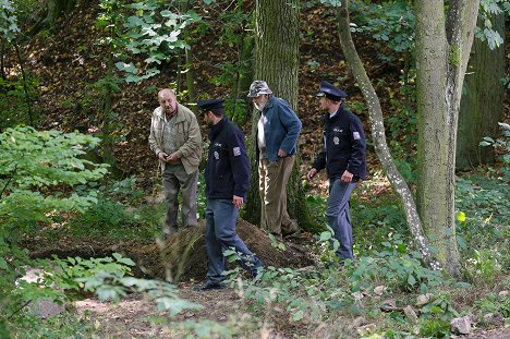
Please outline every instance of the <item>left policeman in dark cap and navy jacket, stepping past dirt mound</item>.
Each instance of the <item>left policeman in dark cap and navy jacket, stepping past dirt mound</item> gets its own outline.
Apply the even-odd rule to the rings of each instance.
[[[227,117],[223,100],[197,102],[210,128],[209,155],[205,169],[206,182],[206,247],[209,269],[202,290],[222,289],[226,277],[223,252],[233,249],[241,267],[256,277],[263,263],[235,233],[239,209],[246,199],[250,185],[250,160],[244,135]]]

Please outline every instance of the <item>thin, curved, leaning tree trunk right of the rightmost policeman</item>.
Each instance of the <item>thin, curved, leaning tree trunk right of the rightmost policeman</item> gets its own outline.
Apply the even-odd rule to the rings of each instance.
[[[374,140],[374,147],[377,157],[379,158],[394,192],[402,202],[408,226],[411,234],[413,235],[413,241],[416,249],[420,251],[420,253],[422,253],[424,261],[428,265],[434,268],[438,268],[439,263],[435,262],[433,258],[427,241],[424,237],[422,222],[420,220],[411,190],[394,166],[393,159],[389,152],[388,144],[386,142],[382,109],[380,107],[379,98],[377,97],[377,94],[372,86],[371,80],[368,78],[368,75],[366,74],[363,66],[363,62],[361,61],[354,43],[352,41],[348,0],[342,0],[341,7],[338,10],[338,28],[343,55],[345,56],[345,60],[351,68],[352,74],[356,78],[356,82],[359,83],[368,106],[372,137]]]

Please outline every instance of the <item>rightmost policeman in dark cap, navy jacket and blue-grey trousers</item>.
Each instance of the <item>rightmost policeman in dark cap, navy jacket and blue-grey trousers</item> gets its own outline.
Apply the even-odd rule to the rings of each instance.
[[[352,226],[349,199],[360,179],[366,177],[366,142],[363,124],[356,116],[347,110],[343,100],[345,92],[328,82],[320,82],[316,94],[320,108],[328,112],[324,117],[324,148],[308,172],[308,179],[326,168],[329,178],[327,207],[328,226],[340,243],[337,255],[340,259],[353,259]]]

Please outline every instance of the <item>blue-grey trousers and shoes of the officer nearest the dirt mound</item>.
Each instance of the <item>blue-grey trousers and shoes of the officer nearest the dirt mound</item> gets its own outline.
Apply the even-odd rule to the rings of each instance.
[[[256,276],[263,266],[260,259],[250,251],[246,244],[235,233],[235,222],[239,209],[231,199],[207,199],[206,208],[206,247],[209,257],[207,280],[219,282],[224,280],[223,252],[233,247],[239,254],[239,264]]]

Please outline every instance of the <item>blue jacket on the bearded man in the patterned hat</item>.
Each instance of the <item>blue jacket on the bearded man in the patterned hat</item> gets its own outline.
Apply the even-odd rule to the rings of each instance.
[[[283,99],[271,96],[262,114],[267,117],[264,121],[267,159],[277,161],[280,148],[288,155],[294,155],[295,144],[301,132],[301,121],[290,105]],[[257,134],[255,133],[255,135]],[[259,149],[256,148],[258,160]]]

